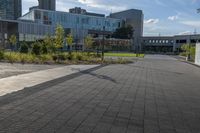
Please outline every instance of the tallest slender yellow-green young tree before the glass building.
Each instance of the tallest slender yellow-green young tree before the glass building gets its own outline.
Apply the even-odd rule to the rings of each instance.
[[[55,35],[55,47],[57,49],[62,49],[64,44],[64,34],[65,31],[61,25],[57,25],[56,27],[56,35]]]

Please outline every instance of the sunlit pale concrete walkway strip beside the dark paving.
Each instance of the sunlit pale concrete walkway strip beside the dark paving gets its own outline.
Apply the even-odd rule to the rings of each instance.
[[[71,65],[3,78],[0,79],[0,96],[94,67],[97,65]]]

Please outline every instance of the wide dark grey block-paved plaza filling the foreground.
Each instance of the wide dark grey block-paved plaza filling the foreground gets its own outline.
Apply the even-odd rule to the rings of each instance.
[[[0,133],[200,133],[200,68],[169,56],[0,97]]]

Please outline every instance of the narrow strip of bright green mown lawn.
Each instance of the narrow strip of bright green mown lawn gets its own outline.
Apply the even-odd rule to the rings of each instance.
[[[105,56],[114,56],[114,57],[140,57],[140,58],[144,58],[144,54],[135,54],[135,53],[105,53]]]

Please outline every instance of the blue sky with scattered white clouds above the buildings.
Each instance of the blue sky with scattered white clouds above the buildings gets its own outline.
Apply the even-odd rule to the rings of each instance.
[[[37,0],[22,0],[23,14]],[[200,0],[57,0],[56,9],[67,11],[82,7],[109,15],[126,9],[140,9],[144,14],[144,36],[200,34]]]

